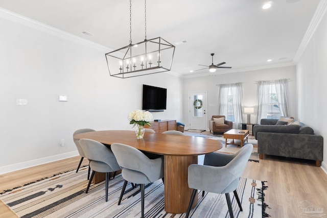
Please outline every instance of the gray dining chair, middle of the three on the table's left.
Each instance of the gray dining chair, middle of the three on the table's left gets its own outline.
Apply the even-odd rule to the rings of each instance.
[[[96,172],[105,173],[106,201],[108,201],[109,173],[114,172],[114,178],[116,171],[120,170],[121,167],[118,165],[112,151],[99,141],[81,138],[80,144],[84,151],[85,157],[90,160],[89,165],[92,169],[91,178],[88,181],[88,185],[85,192],[88,192],[88,189]]]

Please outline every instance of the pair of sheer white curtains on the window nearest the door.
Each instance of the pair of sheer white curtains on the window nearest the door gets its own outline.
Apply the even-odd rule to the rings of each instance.
[[[225,115],[227,118],[227,106],[228,106],[228,90],[231,91],[232,96],[232,108],[234,115],[234,124],[237,128],[242,122],[242,100],[243,89],[242,83],[233,84],[220,84],[219,86],[219,98],[218,98],[218,114]]]

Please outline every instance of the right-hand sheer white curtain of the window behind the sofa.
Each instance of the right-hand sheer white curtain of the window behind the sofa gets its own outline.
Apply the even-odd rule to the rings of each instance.
[[[279,110],[282,116],[289,116],[289,89],[288,79],[281,79],[275,81],[277,100],[279,104]]]

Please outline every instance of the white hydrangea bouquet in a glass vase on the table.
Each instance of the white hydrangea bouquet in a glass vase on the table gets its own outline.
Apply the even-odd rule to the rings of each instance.
[[[136,138],[143,138],[145,132],[143,126],[151,126],[150,121],[152,118],[153,116],[149,111],[134,110],[128,114],[129,124],[134,124],[133,127],[137,125],[135,130]]]

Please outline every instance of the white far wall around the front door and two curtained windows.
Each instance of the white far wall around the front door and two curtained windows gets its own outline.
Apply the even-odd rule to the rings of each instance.
[[[258,85],[256,81],[290,79],[290,116],[297,117],[296,100],[296,71],[295,66],[259,69],[251,71],[233,72],[232,74],[221,74],[217,76],[206,76],[196,78],[185,78],[183,86],[183,122],[189,123],[189,100],[186,98],[189,91],[207,91],[207,115],[218,114],[218,86],[217,84],[243,83],[243,106],[254,107],[251,122],[256,123],[258,112]],[[243,114],[243,122],[246,122],[246,114]],[[188,126],[188,125],[186,125]]]

